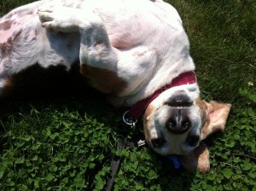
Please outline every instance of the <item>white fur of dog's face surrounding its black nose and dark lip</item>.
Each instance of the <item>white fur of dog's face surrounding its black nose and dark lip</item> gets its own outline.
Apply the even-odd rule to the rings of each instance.
[[[193,105],[189,108],[189,119],[191,119],[192,127],[183,134],[173,134],[166,129],[166,121],[170,118],[169,108],[165,105],[165,102],[170,97],[177,95],[179,90],[183,90],[191,101],[194,101]],[[201,115],[200,108],[196,105],[195,100],[199,97],[199,88],[197,84],[185,84],[172,89],[164,91],[160,96],[154,99],[149,107],[154,108],[151,113],[146,116],[147,131],[148,131],[148,143],[149,140],[159,138],[162,136],[166,140],[166,143],[160,148],[154,148],[156,153],[167,155],[170,153],[187,154],[193,151],[195,147],[190,147],[186,143],[186,139],[189,135],[195,135],[201,137]]]

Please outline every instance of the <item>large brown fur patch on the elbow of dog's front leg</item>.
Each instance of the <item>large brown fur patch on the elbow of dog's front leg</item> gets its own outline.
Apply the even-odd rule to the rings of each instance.
[[[105,94],[118,94],[125,90],[127,83],[108,69],[80,65],[80,72],[89,80],[89,84]]]

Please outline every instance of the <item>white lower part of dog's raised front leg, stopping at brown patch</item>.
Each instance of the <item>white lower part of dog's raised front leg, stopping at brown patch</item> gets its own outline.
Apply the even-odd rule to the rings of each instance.
[[[38,9],[39,19],[49,32],[79,32],[81,65],[114,71],[117,63],[115,49],[100,16],[91,9],[64,6]]]

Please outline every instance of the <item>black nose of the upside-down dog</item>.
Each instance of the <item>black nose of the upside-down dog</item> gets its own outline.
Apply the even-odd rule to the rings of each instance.
[[[175,109],[172,111],[172,116],[166,122],[166,128],[172,133],[182,134],[189,130],[191,122],[187,117],[186,110]]]

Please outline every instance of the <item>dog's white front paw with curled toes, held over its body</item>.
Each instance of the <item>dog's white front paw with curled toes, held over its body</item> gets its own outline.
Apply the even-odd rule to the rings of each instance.
[[[49,6],[38,9],[41,25],[50,32],[75,32],[78,29],[72,8]]]

